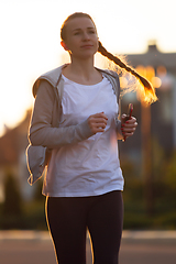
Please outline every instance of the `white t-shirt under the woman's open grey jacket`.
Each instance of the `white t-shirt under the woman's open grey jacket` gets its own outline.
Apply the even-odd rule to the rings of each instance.
[[[53,197],[97,196],[123,189],[119,163],[114,119],[117,97],[103,77],[96,85],[80,85],[64,78],[62,125],[84,122],[89,116],[105,112],[108,123],[97,133],[77,144],[53,150],[43,194]]]

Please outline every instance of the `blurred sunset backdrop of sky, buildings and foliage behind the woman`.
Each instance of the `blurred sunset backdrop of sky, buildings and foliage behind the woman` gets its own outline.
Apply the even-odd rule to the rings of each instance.
[[[68,62],[59,45],[62,23],[73,12],[89,13],[105,47],[146,76],[158,101],[134,105],[139,127],[120,142],[125,178],[124,229],[176,228],[176,37],[174,0],[1,0],[0,2],[0,229],[46,230],[42,180],[31,187],[25,162],[32,84]],[[96,55],[96,65],[107,61]],[[133,81],[121,75],[121,86]]]

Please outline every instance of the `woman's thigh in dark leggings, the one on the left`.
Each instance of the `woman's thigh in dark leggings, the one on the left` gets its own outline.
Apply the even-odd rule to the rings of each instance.
[[[86,264],[86,213],[79,198],[46,199],[46,219],[59,264]]]

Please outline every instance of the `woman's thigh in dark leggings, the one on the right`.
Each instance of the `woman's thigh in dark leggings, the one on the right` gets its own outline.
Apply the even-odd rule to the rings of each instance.
[[[123,227],[123,200],[119,190],[100,196],[89,211],[88,229],[95,264],[118,264]]]

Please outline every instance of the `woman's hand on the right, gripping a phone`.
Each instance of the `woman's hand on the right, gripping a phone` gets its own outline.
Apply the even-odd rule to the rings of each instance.
[[[124,136],[124,140],[134,134],[135,129],[138,127],[136,119],[131,117],[127,120],[127,114],[123,113],[121,117],[121,131]]]

